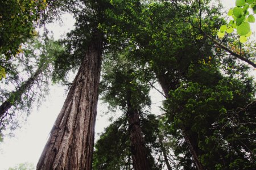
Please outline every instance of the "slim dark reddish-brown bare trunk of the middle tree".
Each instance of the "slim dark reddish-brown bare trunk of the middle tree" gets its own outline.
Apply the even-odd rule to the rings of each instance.
[[[144,137],[139,124],[139,111],[131,105],[131,92],[127,92],[127,117],[130,130],[131,158],[135,170],[150,170]]]

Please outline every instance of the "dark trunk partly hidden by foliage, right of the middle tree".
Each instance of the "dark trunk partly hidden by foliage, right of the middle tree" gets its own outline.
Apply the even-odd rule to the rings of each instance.
[[[170,97],[169,91],[172,90],[172,89],[170,88],[170,84],[168,84],[168,82],[167,82],[168,79],[166,79],[163,74],[161,75],[161,74],[157,74],[157,73],[156,73],[156,75],[157,75],[159,84],[160,84],[160,86],[162,87],[162,89],[163,89],[163,91],[164,91],[164,95],[165,95],[166,98],[168,99],[168,98]],[[174,87],[175,87],[175,86],[174,86]],[[196,149],[196,148],[198,148],[198,147],[197,147],[197,143],[195,143],[194,141],[191,140],[191,138],[189,138],[189,136],[187,135],[187,133],[186,133],[186,131],[185,131],[184,128],[181,129],[181,131],[182,131],[182,135],[183,135],[183,137],[184,137],[184,139],[185,139],[185,142],[186,142],[187,145],[188,145],[189,151],[191,152],[191,155],[192,155],[192,157],[193,157],[193,160],[194,160],[194,163],[195,163],[195,165],[196,165],[196,168],[199,169],[199,170],[203,170],[204,167],[203,167],[203,165],[201,164],[201,162],[200,162],[200,160],[199,160],[199,157],[198,157],[198,155],[199,155],[199,150]]]

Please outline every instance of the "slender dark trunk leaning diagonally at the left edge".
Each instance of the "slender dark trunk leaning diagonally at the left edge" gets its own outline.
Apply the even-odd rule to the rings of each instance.
[[[5,117],[5,113],[18,101],[22,100],[22,95],[34,84],[35,80],[38,79],[39,75],[42,74],[43,70],[48,66],[47,64],[39,67],[35,74],[32,75],[30,78],[26,80],[26,82],[22,83],[22,85],[13,92],[13,95],[9,97],[7,100],[5,100],[0,105],[0,120],[2,120]],[[14,96],[14,97],[13,97]]]

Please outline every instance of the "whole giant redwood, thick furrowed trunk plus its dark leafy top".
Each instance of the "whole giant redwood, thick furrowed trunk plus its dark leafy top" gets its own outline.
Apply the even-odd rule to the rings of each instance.
[[[69,69],[75,70],[79,65],[80,67],[36,169],[92,169],[94,126],[104,41],[104,36],[97,27],[102,22],[103,8],[108,6],[102,5],[104,2],[101,1],[64,3],[67,10],[75,15],[76,28],[63,41],[67,50],[56,56],[53,79],[58,80]],[[78,43],[73,44],[76,40]],[[79,49],[74,46],[79,46]],[[62,69],[60,74],[58,69]]]

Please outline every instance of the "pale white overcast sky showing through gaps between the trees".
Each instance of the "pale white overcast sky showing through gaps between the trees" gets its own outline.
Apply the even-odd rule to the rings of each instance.
[[[222,0],[225,6],[230,8],[234,6],[234,0]],[[74,19],[69,15],[63,16],[63,24],[50,24],[55,39],[59,39],[61,35],[72,29]],[[255,26],[255,24],[254,24]],[[255,28],[253,28],[255,30]],[[253,35],[254,36],[254,35]],[[158,92],[152,91],[151,96],[160,96]],[[50,93],[46,97],[46,101],[42,103],[39,109],[34,108],[28,117],[28,120],[21,129],[15,130],[15,137],[5,138],[0,144],[0,170],[14,167],[14,165],[24,162],[33,163],[36,166],[44,145],[46,145],[49,131],[59,114],[64,103],[65,95],[63,87],[51,86]],[[159,101],[161,97],[154,97],[152,103],[157,103],[154,112],[159,112]],[[106,111],[106,105],[98,104],[98,115],[96,121],[96,134],[104,130],[109,125],[108,117],[101,116]],[[24,113],[20,113],[24,114]],[[97,138],[97,135],[96,135]]]

